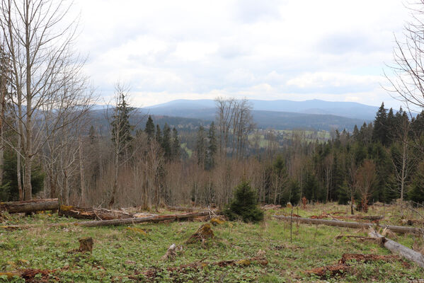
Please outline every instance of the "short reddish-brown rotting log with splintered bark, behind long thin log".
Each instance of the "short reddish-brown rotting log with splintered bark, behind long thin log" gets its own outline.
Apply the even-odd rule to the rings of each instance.
[[[81,208],[71,207],[68,205],[61,205],[59,209],[59,216],[68,216],[76,219],[127,219],[134,218],[133,214],[121,212],[119,210],[111,210],[104,208]]]

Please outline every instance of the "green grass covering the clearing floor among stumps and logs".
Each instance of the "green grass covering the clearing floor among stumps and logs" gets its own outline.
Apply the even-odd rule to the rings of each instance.
[[[345,206],[320,204],[299,209],[302,216],[321,214],[323,210],[343,211]],[[373,208],[374,209],[374,208]],[[376,210],[380,209],[375,208]],[[331,226],[296,225],[270,217],[273,213],[285,214],[288,209],[268,210],[265,221],[258,224],[225,222],[212,226],[215,238],[200,243],[185,241],[202,224],[199,221],[168,224],[139,224],[126,226],[85,228],[47,227],[51,222],[74,221],[48,214],[31,217],[8,216],[8,224],[40,224],[40,227],[16,231],[0,230],[0,270],[13,272],[26,268],[56,270],[51,272],[52,282],[409,282],[423,278],[423,270],[411,263],[356,262],[352,271],[337,277],[317,278],[306,275],[305,270],[338,262],[343,253],[373,253],[388,255],[389,250],[370,241],[342,238],[340,234],[366,236],[367,231],[341,229]],[[296,212],[296,209],[295,211]],[[396,221],[399,211],[391,213],[389,221]],[[369,214],[373,214],[369,212]],[[78,238],[94,238],[93,253],[69,253],[78,248]],[[398,235],[396,241],[411,247],[413,236]],[[174,262],[161,257],[172,243],[183,246]],[[178,267],[193,262],[219,262],[252,258],[258,250],[265,251],[268,265],[252,262],[247,267],[207,265],[200,270],[185,269],[169,272],[167,267]],[[143,273],[156,268],[158,277],[151,280]],[[149,281],[150,280],[150,281]],[[0,282],[24,282],[21,278],[0,276]]]

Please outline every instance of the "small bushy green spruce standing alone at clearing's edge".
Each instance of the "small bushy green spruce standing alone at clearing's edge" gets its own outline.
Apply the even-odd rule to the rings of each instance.
[[[233,200],[224,209],[224,214],[229,220],[241,219],[245,222],[263,220],[263,211],[258,207],[256,191],[251,188],[250,183],[242,181],[236,187]]]

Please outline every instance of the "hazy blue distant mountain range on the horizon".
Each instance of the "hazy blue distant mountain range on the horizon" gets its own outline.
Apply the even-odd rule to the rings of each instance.
[[[377,106],[323,100],[249,100],[253,120],[259,128],[348,129],[374,120]],[[142,109],[150,115],[214,120],[214,100],[173,100]]]

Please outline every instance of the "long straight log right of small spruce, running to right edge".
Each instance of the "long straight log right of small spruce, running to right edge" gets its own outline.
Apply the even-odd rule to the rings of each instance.
[[[290,221],[290,216],[282,216],[282,215],[273,215],[275,219]],[[405,226],[394,226],[394,225],[381,225],[381,224],[373,224],[373,223],[362,223],[362,222],[348,222],[348,221],[339,221],[339,220],[326,220],[326,219],[311,219],[311,218],[303,218],[303,217],[292,217],[292,221],[296,221],[297,223],[304,224],[316,224],[316,225],[328,225],[328,226],[337,226],[337,227],[346,227],[346,228],[373,228],[373,227],[383,227],[389,229],[392,232],[396,233],[420,233],[424,234],[424,229],[416,228],[416,227],[405,227]]]

